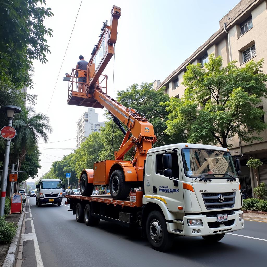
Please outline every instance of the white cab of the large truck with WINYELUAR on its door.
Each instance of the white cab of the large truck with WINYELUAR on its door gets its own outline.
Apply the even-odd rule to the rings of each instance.
[[[168,233],[204,239],[220,240],[226,232],[243,229],[237,169],[227,148],[201,144],[152,148],[144,169],[143,214],[158,209]],[[147,223],[156,242],[160,230],[153,220]]]

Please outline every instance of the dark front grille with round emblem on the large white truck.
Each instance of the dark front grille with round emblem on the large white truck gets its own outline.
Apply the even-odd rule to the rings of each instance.
[[[219,202],[218,196],[223,195],[224,201]],[[202,193],[202,198],[207,210],[232,208],[235,202],[235,192],[227,193]]]

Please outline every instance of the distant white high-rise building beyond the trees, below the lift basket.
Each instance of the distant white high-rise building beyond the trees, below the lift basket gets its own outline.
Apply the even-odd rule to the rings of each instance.
[[[81,143],[92,132],[100,132],[101,127],[105,126],[105,122],[98,121],[98,113],[94,108],[88,108],[87,112],[84,112],[83,115],[77,120],[77,143],[76,147],[80,147]]]

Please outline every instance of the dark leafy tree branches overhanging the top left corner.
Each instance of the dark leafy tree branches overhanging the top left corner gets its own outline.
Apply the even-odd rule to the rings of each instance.
[[[44,19],[54,14],[42,4],[46,0],[0,1],[0,77],[17,88],[33,85],[31,60],[48,61],[45,36],[53,31],[44,26]]]

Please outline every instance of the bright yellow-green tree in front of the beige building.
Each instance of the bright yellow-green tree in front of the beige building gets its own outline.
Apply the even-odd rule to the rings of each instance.
[[[265,112],[255,106],[267,94],[264,61],[250,61],[243,68],[236,66],[237,61],[223,67],[222,61],[221,56],[211,54],[205,68],[199,63],[187,66],[184,96],[162,104],[170,113],[167,135],[187,131],[189,143],[220,144],[225,148],[230,147],[227,139],[236,135],[248,144],[262,140],[258,135],[267,128],[261,119]],[[248,125],[254,131],[248,131]]]

